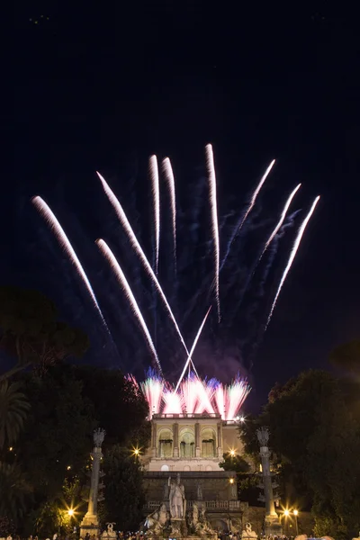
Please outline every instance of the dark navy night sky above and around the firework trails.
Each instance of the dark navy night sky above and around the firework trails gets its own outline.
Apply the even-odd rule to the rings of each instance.
[[[119,180],[135,167],[146,176],[155,152],[170,155],[184,179],[203,166],[211,141],[220,197],[245,202],[276,157],[269,206],[261,202],[265,218],[277,215],[299,182],[294,208],[321,199],[257,349],[258,403],[275,381],[326,366],[332,347],[360,334],[360,50],[355,13],[331,11],[326,2],[284,10],[242,4],[16,4],[8,29],[15,176],[3,184],[2,279],[39,288],[46,275],[46,292],[78,323],[90,308],[72,298],[68,266],[63,292],[59,280],[51,282],[51,257],[61,254],[33,215],[31,195],[49,201],[75,242],[81,235],[90,242],[103,234],[101,214],[109,211],[97,205],[95,170]],[[144,199],[140,214],[148,212]],[[85,215],[87,232],[79,225]],[[292,238],[277,259],[275,284]]]

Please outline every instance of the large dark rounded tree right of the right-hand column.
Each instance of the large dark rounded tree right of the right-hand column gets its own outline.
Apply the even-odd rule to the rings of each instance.
[[[354,457],[360,455],[360,419],[353,403],[347,382],[310,370],[276,385],[257,419],[270,427],[284,499],[302,509],[309,505],[321,535],[354,536],[360,527],[360,464]]]

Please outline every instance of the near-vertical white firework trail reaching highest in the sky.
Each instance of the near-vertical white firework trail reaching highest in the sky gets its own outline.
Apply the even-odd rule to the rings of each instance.
[[[219,296],[220,240],[219,240],[219,223],[218,223],[218,202],[217,202],[217,197],[216,197],[216,175],[215,175],[215,166],[214,166],[211,144],[206,145],[205,153],[206,153],[206,166],[208,169],[208,177],[209,177],[212,236],[213,236],[213,243],[214,243],[215,297],[216,297],[216,303],[218,307],[218,320],[220,322],[220,296]]]

